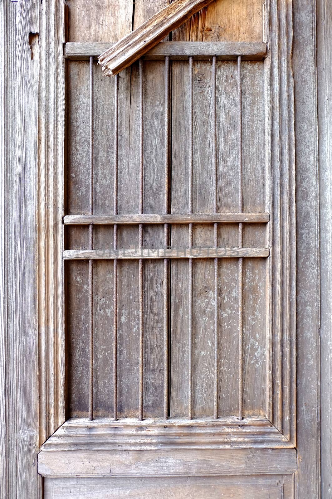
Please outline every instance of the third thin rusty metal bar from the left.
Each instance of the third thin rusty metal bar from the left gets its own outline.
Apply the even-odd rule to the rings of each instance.
[[[140,109],[140,155],[139,155],[139,211],[143,213],[143,161],[144,161],[144,123],[143,123],[143,61],[139,60],[139,109]],[[143,246],[143,226],[139,225],[139,248]],[[139,421],[143,419],[143,260],[138,263],[139,286]]]

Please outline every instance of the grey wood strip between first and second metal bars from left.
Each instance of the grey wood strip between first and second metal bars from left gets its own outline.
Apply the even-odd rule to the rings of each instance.
[[[103,78],[94,64],[93,211],[113,213],[115,78]],[[94,227],[94,248],[113,247],[113,226]],[[113,262],[93,263],[93,411],[113,415]]]

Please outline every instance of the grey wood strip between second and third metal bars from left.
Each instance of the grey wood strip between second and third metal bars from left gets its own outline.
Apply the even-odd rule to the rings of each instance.
[[[139,74],[119,75],[118,213],[139,213]],[[118,227],[118,247],[138,248],[138,227]],[[118,417],[138,417],[138,262],[118,262]]]

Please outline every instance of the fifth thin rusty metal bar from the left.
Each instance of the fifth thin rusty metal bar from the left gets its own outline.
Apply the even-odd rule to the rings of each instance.
[[[193,58],[189,57],[189,211],[193,213]],[[189,248],[193,246],[193,224],[189,224]],[[193,418],[193,259],[189,258],[189,366],[188,414]]]

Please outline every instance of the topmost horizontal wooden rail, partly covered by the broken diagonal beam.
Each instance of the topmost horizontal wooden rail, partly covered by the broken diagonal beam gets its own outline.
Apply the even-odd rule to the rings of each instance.
[[[111,42],[67,42],[65,57],[72,60],[88,60],[99,55],[112,46]],[[232,60],[238,55],[243,60],[261,60],[267,53],[263,41],[164,41],[144,54],[147,60],[162,60],[166,56],[172,60],[194,59],[204,60],[216,56],[217,59]]]

